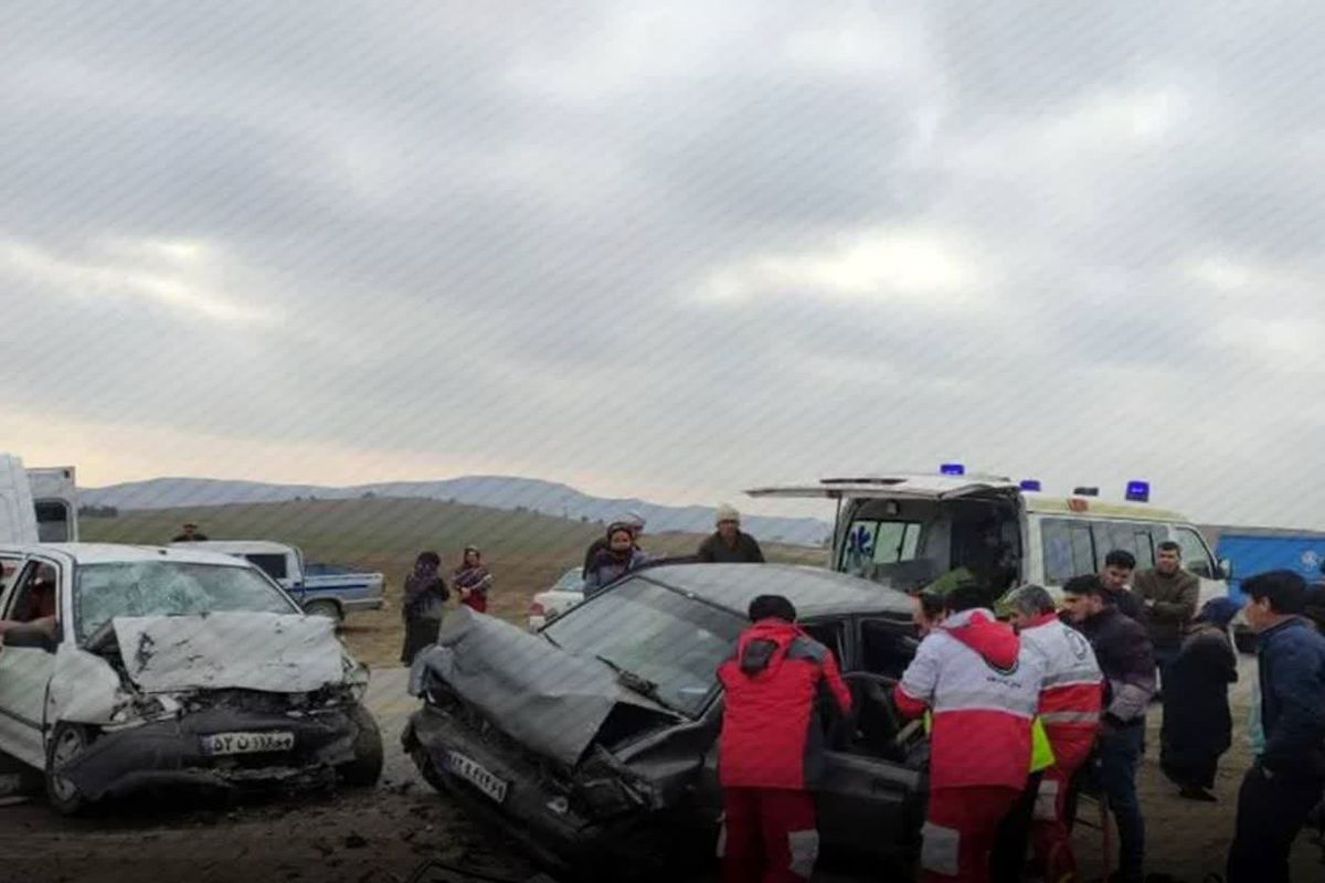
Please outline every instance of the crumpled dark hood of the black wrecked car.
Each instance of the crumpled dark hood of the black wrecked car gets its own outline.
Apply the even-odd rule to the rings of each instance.
[[[507,736],[566,767],[579,761],[616,703],[657,708],[623,691],[603,663],[464,606],[447,616],[437,643],[415,659],[411,694],[420,695],[425,671]]]

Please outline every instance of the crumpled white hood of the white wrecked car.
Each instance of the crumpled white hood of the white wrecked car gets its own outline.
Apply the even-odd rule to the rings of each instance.
[[[346,678],[335,624],[292,613],[117,617],[129,678],[144,692],[310,692]]]

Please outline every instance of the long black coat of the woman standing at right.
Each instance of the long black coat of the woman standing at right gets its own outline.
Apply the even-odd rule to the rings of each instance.
[[[1162,753],[1175,764],[1219,757],[1232,745],[1228,684],[1238,680],[1238,657],[1228,635],[1200,629],[1182,643],[1163,688]]]

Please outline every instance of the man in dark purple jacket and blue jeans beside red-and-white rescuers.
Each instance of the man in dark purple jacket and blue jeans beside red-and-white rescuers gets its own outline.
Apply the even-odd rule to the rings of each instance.
[[[1154,651],[1141,624],[1105,602],[1098,576],[1068,580],[1063,606],[1090,642],[1104,673],[1098,784],[1118,823],[1117,879],[1141,883],[1146,826],[1137,797],[1137,764],[1145,748],[1146,707],[1155,690]]]

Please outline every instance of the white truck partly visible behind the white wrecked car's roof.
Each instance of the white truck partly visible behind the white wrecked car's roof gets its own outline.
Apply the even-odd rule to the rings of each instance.
[[[26,469],[19,457],[0,454],[0,541],[78,541],[73,466]]]

